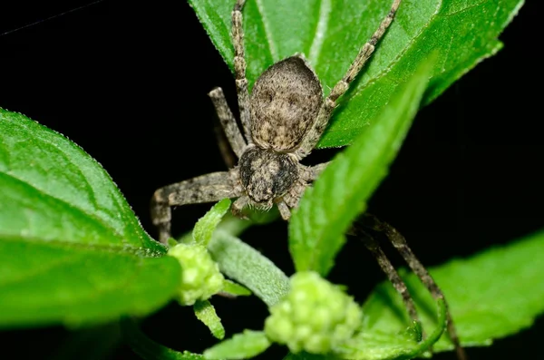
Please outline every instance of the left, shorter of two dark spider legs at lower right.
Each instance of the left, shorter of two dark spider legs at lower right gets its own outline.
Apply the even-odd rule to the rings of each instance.
[[[359,238],[363,241],[364,247],[372,253],[378,265],[384,271],[389,281],[393,285],[394,289],[403,297],[403,303],[408,310],[408,315],[412,320],[419,321],[417,312],[415,311],[415,304],[413,303],[413,298],[408,291],[408,287],[404,284],[403,278],[399,276],[399,273],[393,268],[393,264],[389,261],[389,258],[384,253],[384,250],[380,247],[380,244],[364,229],[361,229],[361,226],[355,222],[352,229],[349,231],[349,235],[352,235],[356,238]]]

